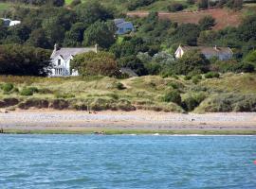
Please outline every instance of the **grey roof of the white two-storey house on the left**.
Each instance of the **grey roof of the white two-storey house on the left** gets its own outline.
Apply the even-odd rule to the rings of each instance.
[[[58,56],[62,56],[64,60],[67,60],[70,56],[75,56],[82,53],[87,53],[90,51],[95,52],[94,47],[89,48],[60,48],[59,50],[53,51],[52,55],[50,56],[50,59],[55,59]]]

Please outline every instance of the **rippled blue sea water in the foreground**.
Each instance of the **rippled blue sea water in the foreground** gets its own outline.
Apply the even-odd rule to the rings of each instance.
[[[0,188],[256,188],[253,136],[0,135]]]

